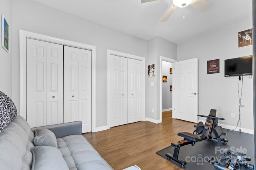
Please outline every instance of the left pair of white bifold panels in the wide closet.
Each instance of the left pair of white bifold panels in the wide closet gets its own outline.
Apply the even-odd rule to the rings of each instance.
[[[63,123],[63,45],[27,39],[27,121]]]

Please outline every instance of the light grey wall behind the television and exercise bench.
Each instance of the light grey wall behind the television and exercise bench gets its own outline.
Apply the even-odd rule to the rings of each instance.
[[[224,77],[224,60],[252,55],[252,46],[238,48],[238,32],[250,28],[252,19],[178,44],[178,61],[198,57],[199,114],[208,115],[210,109],[217,109],[216,116],[225,119],[219,123],[229,129],[236,127],[239,117],[238,76]],[[220,59],[220,73],[207,74],[207,61],[214,59]],[[252,79],[244,76],[241,130],[248,133],[253,133],[254,127],[252,90]]]

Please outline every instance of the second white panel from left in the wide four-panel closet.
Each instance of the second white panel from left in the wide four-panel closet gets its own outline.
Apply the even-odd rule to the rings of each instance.
[[[63,123],[63,45],[46,43],[47,125]]]

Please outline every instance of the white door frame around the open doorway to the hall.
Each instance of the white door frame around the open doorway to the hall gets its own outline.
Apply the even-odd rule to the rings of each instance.
[[[164,56],[160,56],[160,68],[159,68],[159,70],[160,70],[160,76],[159,76],[159,81],[160,81],[160,88],[159,88],[159,90],[160,90],[160,95],[159,95],[159,101],[160,101],[160,111],[159,111],[159,113],[160,113],[160,122],[158,122],[158,123],[161,123],[162,121],[163,121],[163,114],[162,114],[162,112],[163,112],[163,105],[162,105],[162,100],[163,100],[163,95],[162,95],[162,92],[163,92],[163,80],[162,80],[162,61],[167,61],[167,62],[169,62],[169,63],[175,63],[175,62],[177,62],[177,60],[174,60],[174,59],[170,59],[170,58],[167,58],[167,57],[164,57]],[[174,79],[174,77],[172,77],[172,80]],[[172,81],[172,83],[173,83],[173,81]],[[173,94],[173,92],[174,92],[174,90],[172,91],[172,96],[174,95]],[[172,100],[173,101],[173,100]]]

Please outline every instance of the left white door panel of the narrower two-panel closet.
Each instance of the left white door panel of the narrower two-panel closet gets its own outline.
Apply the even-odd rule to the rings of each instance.
[[[110,55],[110,127],[127,124],[127,58]]]

